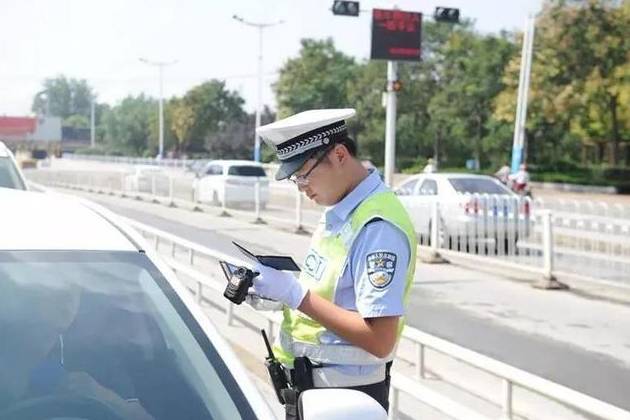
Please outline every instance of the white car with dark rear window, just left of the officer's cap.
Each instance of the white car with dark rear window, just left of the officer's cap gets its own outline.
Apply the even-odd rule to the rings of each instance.
[[[262,164],[249,160],[213,160],[206,164],[197,182],[199,201],[252,206],[257,182],[260,207],[265,208],[269,200],[269,178]]]

